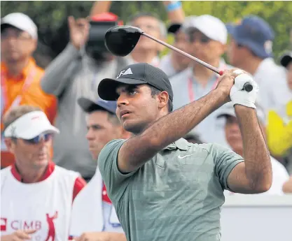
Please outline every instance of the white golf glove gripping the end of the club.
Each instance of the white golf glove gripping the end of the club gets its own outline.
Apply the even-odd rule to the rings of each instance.
[[[258,84],[253,80],[251,75],[244,73],[241,70],[236,70],[234,73],[242,73],[235,78],[235,84],[230,90],[230,98],[233,105],[245,105],[250,108],[256,109],[256,97],[258,95]],[[249,83],[253,86],[251,92],[246,92],[243,87],[245,83]]]

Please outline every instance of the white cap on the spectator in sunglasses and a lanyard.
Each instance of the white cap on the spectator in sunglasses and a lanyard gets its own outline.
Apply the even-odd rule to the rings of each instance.
[[[227,43],[227,29],[225,24],[217,17],[211,15],[193,17],[191,22],[188,23],[188,27],[199,30],[214,41],[219,41],[223,44]]]

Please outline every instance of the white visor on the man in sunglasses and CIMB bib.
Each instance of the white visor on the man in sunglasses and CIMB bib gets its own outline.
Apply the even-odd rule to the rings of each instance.
[[[42,133],[60,133],[50,124],[48,117],[42,111],[28,112],[12,122],[4,131],[4,137],[14,137],[29,140]]]

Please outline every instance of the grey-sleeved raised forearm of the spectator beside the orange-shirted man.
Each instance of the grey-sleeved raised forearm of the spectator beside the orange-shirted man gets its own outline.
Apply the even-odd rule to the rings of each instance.
[[[65,76],[72,62],[78,57],[78,50],[69,44],[46,68],[41,79],[41,87],[44,92],[59,96],[66,86]]]

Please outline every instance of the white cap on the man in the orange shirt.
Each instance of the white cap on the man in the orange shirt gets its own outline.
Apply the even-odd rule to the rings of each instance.
[[[29,33],[32,38],[38,38],[38,29],[36,24],[30,19],[29,16],[23,13],[10,13],[1,19],[2,24],[9,24],[22,31]]]

